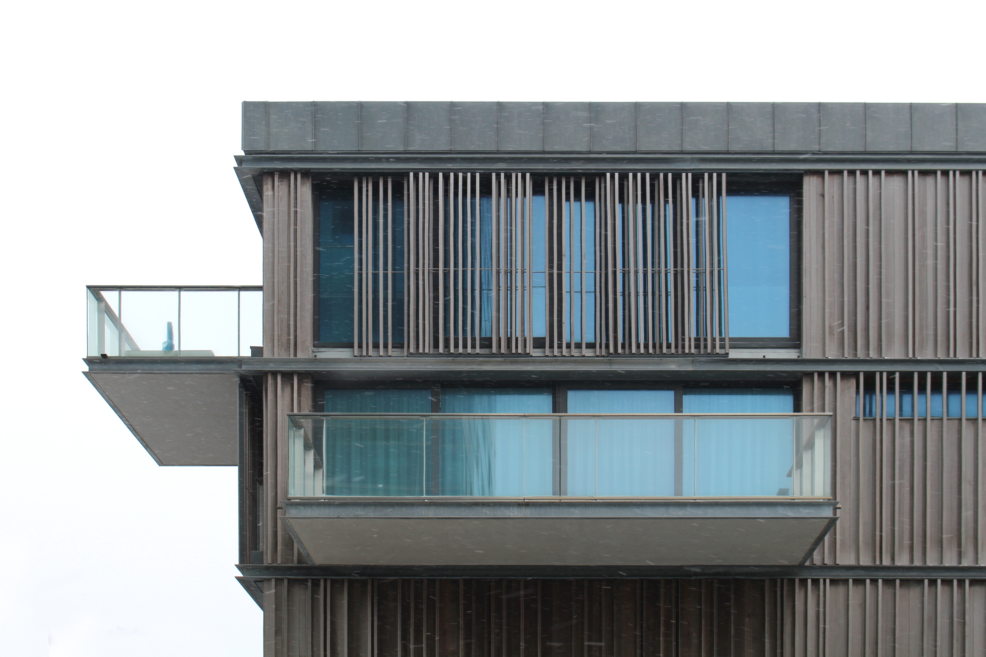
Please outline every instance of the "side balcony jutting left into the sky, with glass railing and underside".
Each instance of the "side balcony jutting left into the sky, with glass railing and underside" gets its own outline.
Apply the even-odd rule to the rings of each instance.
[[[210,366],[260,348],[261,288],[90,286],[86,298],[86,376],[155,461],[237,465],[240,380]]]

